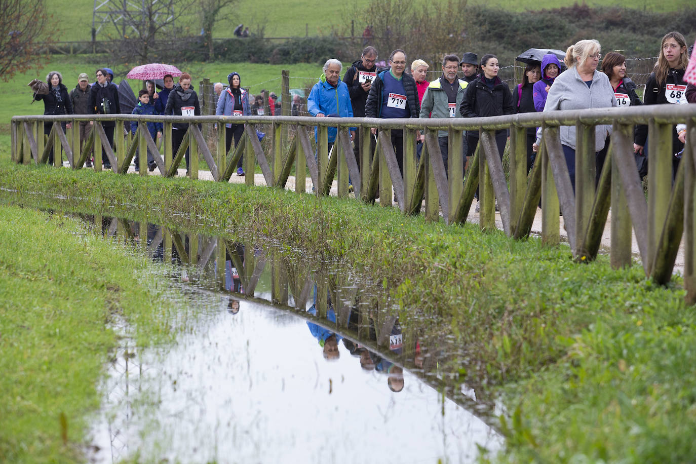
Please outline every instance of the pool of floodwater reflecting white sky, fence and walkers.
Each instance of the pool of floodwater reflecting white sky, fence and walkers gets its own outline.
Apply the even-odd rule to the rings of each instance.
[[[94,461],[471,462],[502,444],[492,403],[448,370],[455,348],[379,285],[271,241],[81,217],[167,264],[198,314],[173,347],[125,337]]]

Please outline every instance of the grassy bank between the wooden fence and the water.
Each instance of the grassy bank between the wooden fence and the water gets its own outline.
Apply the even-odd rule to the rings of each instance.
[[[696,315],[679,279],[659,287],[640,266],[612,271],[607,257],[574,264],[564,246],[278,189],[6,162],[0,185],[211,234],[251,229],[343,259],[390,289],[406,323],[433,321],[465,347],[454,371],[500,395],[509,412],[503,460],[685,462],[695,454]]]

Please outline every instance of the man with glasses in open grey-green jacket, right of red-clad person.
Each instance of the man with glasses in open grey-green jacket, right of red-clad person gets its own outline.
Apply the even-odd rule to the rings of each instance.
[[[429,83],[423,101],[420,102],[420,118],[462,118],[457,111],[468,83],[457,79],[459,56],[445,55],[442,61],[442,75]],[[442,161],[445,163],[445,174],[448,173],[448,131],[438,131],[438,143]],[[456,154],[464,157],[464,153]]]

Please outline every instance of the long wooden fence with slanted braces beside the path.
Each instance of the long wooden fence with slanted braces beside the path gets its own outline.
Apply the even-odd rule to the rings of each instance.
[[[72,125],[68,141],[60,122],[94,121],[95,130],[79,150],[77,124]],[[126,122],[135,120],[139,130],[132,140],[116,137],[115,149],[106,141],[102,122],[115,121],[116,134],[123,134]],[[164,143],[160,149],[148,133],[145,122],[164,123]],[[51,134],[44,140],[44,123],[53,122]],[[176,153],[171,145],[173,122],[188,122],[184,141]],[[213,147],[203,137],[201,125],[228,122],[245,126],[237,147],[226,150],[225,131],[217,131]],[[686,122],[688,136],[679,170],[672,182],[672,126]],[[594,126],[612,125],[613,131],[599,184],[596,184]],[[649,180],[646,200],[633,157],[633,127],[649,126]],[[256,128],[266,125],[270,136],[264,152]],[[576,186],[573,189],[560,142],[560,126],[576,126]],[[318,126],[316,148],[308,129]],[[329,150],[329,127],[338,132]],[[361,132],[358,159],[354,156],[349,129]],[[377,143],[371,151],[371,128],[377,128]],[[525,138],[527,128],[542,127],[539,154],[527,174]],[[290,129],[290,130],[288,130]],[[404,131],[404,174],[400,173],[390,142],[390,130]],[[495,141],[496,129],[509,129],[509,173],[503,170]],[[438,147],[437,131],[449,134],[449,152],[461,153],[463,131],[480,131],[480,143],[468,161],[464,177],[464,157],[450,157],[445,171]],[[286,132],[287,131],[287,132]],[[420,159],[416,155],[416,133],[425,131]],[[282,134],[292,134],[284,143]],[[139,152],[140,175],[147,175],[149,149],[161,175],[171,177],[190,148],[190,175],[198,178],[198,154],[207,163],[212,177],[228,182],[239,157],[244,155],[244,170],[253,173],[258,163],[267,186],[285,188],[294,167],[295,190],[307,191],[306,176],[316,195],[328,195],[334,179],[338,195],[349,194],[349,177],[356,198],[392,206],[392,192],[404,214],[423,214],[431,221],[442,215],[445,223],[464,223],[477,187],[480,189],[480,227],[495,227],[495,202],[505,234],[514,239],[528,237],[541,199],[541,239],[548,245],[560,243],[559,212],[564,218],[570,248],[579,262],[594,259],[608,211],[612,210],[611,264],[615,268],[630,266],[631,230],[640,250],[640,262],[647,277],[665,284],[672,277],[674,260],[682,236],[685,238],[684,284],[688,303],[696,302],[696,106],[660,105],[628,109],[594,109],[525,113],[493,118],[456,119],[372,119],[310,118],[291,116],[139,116],[139,115],[68,115],[15,116],[12,120],[12,157],[17,163],[45,163],[52,147],[60,147],[72,168],[81,168],[88,154],[95,154],[95,170],[101,170],[101,150],[111,160],[115,173],[126,173],[136,151]],[[60,150],[58,150],[60,151]],[[117,156],[118,155],[118,156]],[[54,163],[61,164],[56,154]],[[358,162],[359,161],[359,162]],[[253,175],[246,184],[253,185]],[[379,196],[378,196],[379,194]]]

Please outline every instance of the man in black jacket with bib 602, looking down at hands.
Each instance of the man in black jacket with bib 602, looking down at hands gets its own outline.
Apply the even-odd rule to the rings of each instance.
[[[354,61],[343,76],[343,81],[348,86],[348,92],[350,93],[350,102],[353,106],[354,118],[365,117],[365,102],[367,102],[367,95],[370,93],[370,88],[372,88],[372,81],[374,81],[374,78],[377,77],[377,66],[374,64],[376,62],[377,49],[374,47],[365,47],[360,59]],[[374,138],[370,137],[370,140],[370,154],[374,154]],[[355,154],[355,159],[358,162],[359,168],[361,161],[359,130],[357,130],[355,133],[354,142],[353,153]]]

